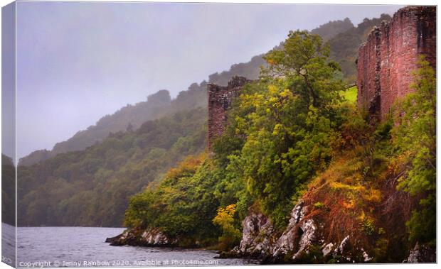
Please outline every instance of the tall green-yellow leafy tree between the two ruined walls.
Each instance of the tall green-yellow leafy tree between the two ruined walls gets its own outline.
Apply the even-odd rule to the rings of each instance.
[[[262,211],[281,228],[292,199],[331,159],[344,84],[339,66],[329,60],[329,47],[307,31],[290,32],[283,48],[270,51],[265,60],[260,82],[245,87],[233,104],[237,108],[229,125],[244,141],[228,155],[226,170],[242,177]],[[215,143],[214,148],[225,147]]]

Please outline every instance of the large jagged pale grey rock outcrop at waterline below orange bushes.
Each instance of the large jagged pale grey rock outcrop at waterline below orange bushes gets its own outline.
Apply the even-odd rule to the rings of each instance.
[[[351,237],[340,242],[324,238],[324,224],[312,217],[312,206],[303,200],[292,209],[289,224],[277,234],[270,219],[250,212],[243,221],[243,238],[231,256],[261,259],[262,263],[367,263],[373,258],[363,248],[353,246]]]

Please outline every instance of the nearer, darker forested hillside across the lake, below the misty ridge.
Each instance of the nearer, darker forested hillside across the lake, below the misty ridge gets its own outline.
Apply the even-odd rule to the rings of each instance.
[[[19,226],[121,226],[127,199],[203,151],[206,109],[147,121],[86,150],[18,168]]]

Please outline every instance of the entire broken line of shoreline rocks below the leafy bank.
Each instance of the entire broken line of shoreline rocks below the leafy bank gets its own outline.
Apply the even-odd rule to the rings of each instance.
[[[260,260],[263,264],[276,263],[369,263],[373,256],[362,246],[354,246],[351,237],[339,242],[326,241],[324,224],[309,216],[311,206],[300,200],[292,209],[289,224],[280,234],[270,219],[251,211],[243,220],[240,245],[218,258],[245,258]],[[181,247],[178,238],[168,238],[158,229],[131,229],[107,238],[111,246]],[[197,247],[197,244],[193,246]],[[192,246],[192,247],[193,247]],[[188,246],[189,247],[189,246]],[[200,247],[200,246],[199,246]],[[410,251],[403,263],[434,263],[436,252],[427,246]]]

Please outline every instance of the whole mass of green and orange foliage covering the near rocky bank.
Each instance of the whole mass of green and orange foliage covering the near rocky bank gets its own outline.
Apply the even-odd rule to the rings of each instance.
[[[377,123],[356,109],[356,89],[345,92],[319,36],[291,32],[265,60],[212,152],[133,197],[125,224],[225,250],[240,241],[250,207],[281,232],[302,198],[327,240],[350,235],[374,262],[400,262],[417,241],[434,246],[436,94],[427,62],[415,93]]]

